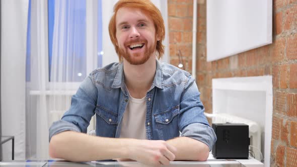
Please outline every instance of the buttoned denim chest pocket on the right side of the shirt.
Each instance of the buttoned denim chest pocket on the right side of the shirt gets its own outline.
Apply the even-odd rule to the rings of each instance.
[[[168,140],[179,136],[177,115],[179,106],[154,114],[156,126],[162,140]]]

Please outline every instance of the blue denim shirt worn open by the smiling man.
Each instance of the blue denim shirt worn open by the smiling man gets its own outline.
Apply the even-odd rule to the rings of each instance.
[[[156,63],[155,78],[145,96],[143,123],[146,139],[169,140],[186,136],[205,143],[211,150],[216,136],[203,114],[195,80],[190,73],[173,65],[158,60]],[[87,133],[95,114],[96,135],[118,138],[128,102],[123,63],[98,68],[86,77],[76,95],[72,96],[70,109],[61,120],[52,124],[49,140],[67,130]]]

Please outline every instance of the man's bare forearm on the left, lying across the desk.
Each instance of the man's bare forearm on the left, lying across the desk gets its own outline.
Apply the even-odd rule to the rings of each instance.
[[[128,158],[127,144],[131,139],[91,136],[65,131],[54,135],[49,143],[53,158],[70,161],[94,161],[113,158]]]

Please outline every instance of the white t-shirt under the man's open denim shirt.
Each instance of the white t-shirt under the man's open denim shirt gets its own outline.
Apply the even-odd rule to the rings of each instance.
[[[122,118],[120,138],[146,139],[145,113],[145,97],[135,99],[129,95],[129,102]]]

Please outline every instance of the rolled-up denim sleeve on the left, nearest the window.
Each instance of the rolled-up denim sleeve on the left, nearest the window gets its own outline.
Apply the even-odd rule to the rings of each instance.
[[[61,120],[54,122],[49,128],[49,141],[52,136],[63,131],[87,133],[87,127],[95,114],[97,97],[98,91],[91,74],[72,96],[70,109],[65,112]]]

